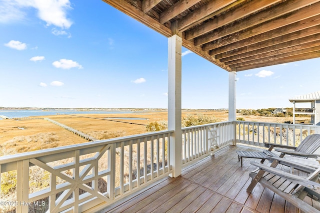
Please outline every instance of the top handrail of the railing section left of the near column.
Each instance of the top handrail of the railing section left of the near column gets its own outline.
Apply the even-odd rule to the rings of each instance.
[[[70,152],[70,151],[75,151],[75,150],[80,150],[80,149],[86,149],[89,147],[119,143],[119,142],[128,141],[128,140],[135,140],[135,139],[138,139],[141,137],[152,137],[152,136],[156,136],[156,135],[160,135],[160,134],[164,134],[164,133],[173,133],[173,132],[174,132],[173,130],[163,130],[163,131],[157,131],[157,132],[151,132],[151,133],[143,133],[143,134],[123,136],[123,137],[112,138],[112,139],[99,140],[99,141],[94,141],[94,142],[85,142],[82,144],[74,144],[74,145],[49,148],[49,149],[44,149],[44,150],[31,151],[31,152],[26,152],[26,153],[6,155],[6,156],[0,157],[0,165],[12,163],[12,162],[17,162],[17,161],[22,161],[22,160],[26,160],[26,159],[31,159],[31,158],[43,157],[43,156],[52,155],[52,154]]]

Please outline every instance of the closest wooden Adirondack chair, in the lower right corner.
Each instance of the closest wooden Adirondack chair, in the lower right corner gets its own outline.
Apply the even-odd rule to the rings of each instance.
[[[314,182],[320,174],[320,168],[316,169],[307,178],[302,178],[281,170],[266,166],[261,163],[251,162],[252,165],[257,166],[260,171],[265,171],[267,174],[259,179],[259,183],[276,193],[286,201],[290,202],[295,207],[306,213],[320,213],[319,210],[305,203],[303,199],[305,196],[310,197],[314,201],[319,202],[320,194],[314,190],[320,189],[320,184]],[[297,166],[295,163],[292,166]],[[250,173],[252,180],[256,173]]]

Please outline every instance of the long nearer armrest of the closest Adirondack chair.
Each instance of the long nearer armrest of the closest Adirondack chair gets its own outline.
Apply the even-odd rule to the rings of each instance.
[[[297,183],[301,186],[307,187],[309,189],[318,189],[320,188],[320,184],[315,183],[313,181],[307,180],[305,178],[296,176],[296,175],[292,175],[290,173],[286,173],[283,171],[280,171],[278,169],[272,168],[272,167],[268,167],[265,166],[264,164],[260,164],[260,163],[255,163],[255,162],[250,162],[250,164],[252,164],[253,166],[256,166],[258,168],[260,168],[263,171],[266,171],[268,173],[271,173],[273,175],[277,175],[281,178],[287,179],[289,181],[292,181],[294,183]]]

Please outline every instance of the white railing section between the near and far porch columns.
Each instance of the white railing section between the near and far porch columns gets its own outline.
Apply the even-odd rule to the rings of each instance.
[[[182,128],[182,166],[200,160],[210,151],[234,141],[234,122]]]

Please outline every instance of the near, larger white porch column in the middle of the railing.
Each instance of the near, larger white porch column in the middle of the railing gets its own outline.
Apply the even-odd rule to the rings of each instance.
[[[181,131],[181,43],[173,35],[168,38],[168,130],[174,130],[170,137],[169,157],[173,172],[171,177],[181,175],[182,131]]]

